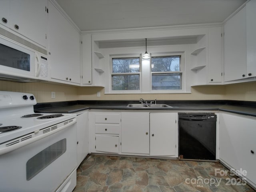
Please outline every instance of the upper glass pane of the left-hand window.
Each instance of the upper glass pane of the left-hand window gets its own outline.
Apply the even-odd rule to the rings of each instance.
[[[113,73],[140,72],[140,58],[113,58]]]

